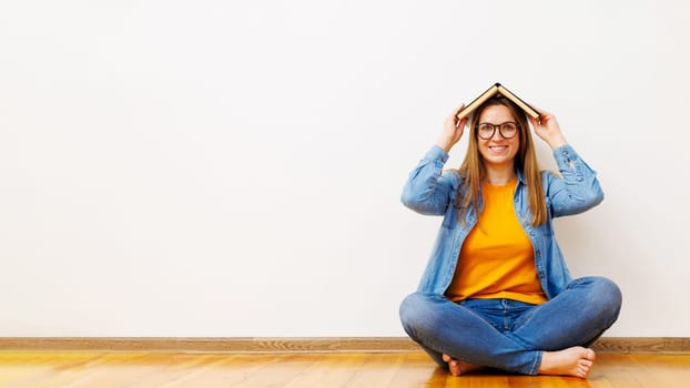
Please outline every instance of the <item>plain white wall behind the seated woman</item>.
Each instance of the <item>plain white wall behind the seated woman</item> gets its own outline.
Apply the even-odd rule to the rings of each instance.
[[[2,2],[0,336],[404,335],[439,219],[402,186],[496,81],[599,172],[606,201],[557,228],[623,289],[608,335],[690,336],[689,11]]]

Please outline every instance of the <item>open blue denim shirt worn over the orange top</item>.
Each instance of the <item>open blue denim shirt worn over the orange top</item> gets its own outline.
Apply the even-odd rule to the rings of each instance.
[[[544,224],[531,226],[527,184],[521,171],[518,171],[517,187],[514,194],[515,214],[531,242],[537,276],[548,299],[564,290],[571,280],[562,253],[554,236],[552,218],[585,212],[603,200],[603,192],[599,186],[596,172],[570,145],[566,144],[554,150],[554,157],[561,176],[541,172],[548,212]],[[466,222],[457,222],[457,208],[454,206],[454,201],[463,177],[457,171],[443,173],[447,160],[448,154],[435,145],[412,171],[402,195],[403,204],[413,211],[426,215],[444,216],[432,256],[418,287],[419,292],[439,295],[445,294],[450,285],[460,247],[477,223],[477,214],[471,206],[465,217]],[[481,208],[480,202],[479,210]]]

